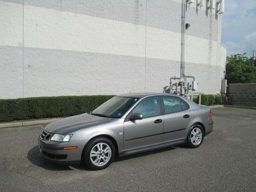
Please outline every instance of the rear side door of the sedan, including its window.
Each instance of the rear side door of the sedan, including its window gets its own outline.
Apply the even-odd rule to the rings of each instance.
[[[189,105],[176,96],[162,96],[164,113],[164,142],[186,139],[186,129],[192,118]]]

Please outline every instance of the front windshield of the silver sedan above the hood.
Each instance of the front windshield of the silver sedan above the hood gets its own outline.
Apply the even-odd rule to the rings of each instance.
[[[136,103],[139,98],[134,97],[113,97],[96,108],[92,115],[100,117],[120,118]]]

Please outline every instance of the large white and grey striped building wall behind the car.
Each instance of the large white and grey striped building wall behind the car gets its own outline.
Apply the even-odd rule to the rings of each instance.
[[[186,74],[219,93],[221,15],[187,7]],[[0,1],[0,98],[162,92],[180,76],[181,0]]]

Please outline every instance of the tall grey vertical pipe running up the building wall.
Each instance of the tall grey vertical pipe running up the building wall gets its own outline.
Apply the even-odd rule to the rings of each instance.
[[[187,83],[187,78],[193,78],[194,76],[185,75],[185,28],[186,28],[186,0],[182,0],[181,3],[181,64],[180,64],[180,77],[184,79],[185,84]]]

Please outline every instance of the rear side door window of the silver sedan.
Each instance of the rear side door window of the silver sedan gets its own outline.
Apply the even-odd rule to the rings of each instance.
[[[163,97],[164,114],[176,113],[189,109],[189,106],[178,97]]]

